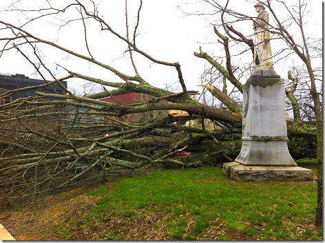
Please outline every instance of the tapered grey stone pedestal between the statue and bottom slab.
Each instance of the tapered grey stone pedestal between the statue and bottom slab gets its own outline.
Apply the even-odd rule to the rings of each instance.
[[[296,166],[287,145],[284,83],[273,71],[254,72],[244,85],[242,165]]]

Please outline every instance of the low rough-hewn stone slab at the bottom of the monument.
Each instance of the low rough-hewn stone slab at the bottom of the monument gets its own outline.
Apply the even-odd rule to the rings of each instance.
[[[238,162],[223,164],[223,173],[232,180],[265,181],[265,180],[314,180],[313,171],[302,167],[284,166],[247,166]]]

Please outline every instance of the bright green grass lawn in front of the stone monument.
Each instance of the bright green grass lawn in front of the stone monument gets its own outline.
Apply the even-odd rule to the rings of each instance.
[[[156,227],[173,240],[200,239],[215,228],[215,240],[322,240],[321,230],[308,229],[315,220],[316,193],[315,182],[235,182],[216,167],[155,171],[123,178],[113,190],[90,191],[100,199],[83,224],[108,229],[110,217],[120,218],[121,225],[102,240],[127,240],[123,226],[154,214],[165,219]],[[297,225],[305,228],[297,231]],[[60,229],[64,237],[73,226],[66,228]]]

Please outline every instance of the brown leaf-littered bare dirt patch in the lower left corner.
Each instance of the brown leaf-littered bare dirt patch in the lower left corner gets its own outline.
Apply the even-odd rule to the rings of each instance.
[[[45,196],[21,209],[0,211],[0,223],[16,240],[57,240],[52,229],[94,205],[95,198],[83,191]]]

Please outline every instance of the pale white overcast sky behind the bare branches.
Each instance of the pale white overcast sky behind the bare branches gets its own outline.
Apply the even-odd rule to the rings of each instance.
[[[50,3],[53,4],[53,6],[57,6],[57,8],[67,6],[70,2],[73,1],[50,1]],[[289,2],[292,3],[293,1]],[[139,3],[140,1],[136,0],[128,1],[130,36],[133,35]],[[254,1],[233,0],[230,1],[230,8],[255,17],[257,13],[253,7],[254,3]],[[311,12],[305,17],[308,20],[305,28],[306,36],[322,37],[322,1],[309,1],[308,5],[310,6],[309,9]],[[48,4],[45,0],[1,0],[0,6],[1,10],[5,10],[8,6],[11,6],[10,8],[37,10],[41,7],[47,7]],[[103,17],[113,30],[125,36],[125,1],[102,0],[98,9],[99,16]],[[209,13],[212,11],[213,7],[202,1],[143,0],[136,44],[140,50],[147,52],[147,54],[154,57],[154,59],[180,63],[188,89],[198,90],[199,88],[196,85],[200,84],[202,70],[204,66],[209,67],[210,65],[207,61],[198,59],[194,56],[193,52],[198,52],[199,45],[201,45],[202,50],[211,56],[224,56],[222,45],[218,43],[218,36],[214,34],[211,25],[214,20],[218,20],[218,15],[198,16],[195,14],[196,12]],[[277,14],[279,14],[281,18],[284,18],[287,14],[283,10],[277,9],[276,6],[275,11],[279,11]],[[21,13],[2,11],[0,12],[0,19],[8,23],[21,25],[26,19],[34,17],[37,14],[39,14],[39,12]],[[73,21],[59,28],[59,25],[63,24],[64,21],[77,17],[76,11],[68,10],[65,14],[46,17],[43,21],[32,21],[26,25],[24,29],[43,39],[53,41],[63,47],[88,55],[85,47],[83,23],[81,21]],[[272,21],[274,20],[270,19],[270,23],[272,23]],[[112,67],[127,75],[134,75],[135,72],[129,61],[129,54],[125,53],[127,45],[109,32],[101,33],[98,23],[94,23],[94,21],[87,21],[86,25],[88,27],[87,37],[90,51],[94,58],[108,65],[112,65]],[[249,21],[235,23],[234,27],[243,32],[243,34],[253,34],[252,23]],[[300,34],[299,30],[295,29],[295,31],[295,36],[298,36]],[[1,34],[1,37],[3,37],[3,34]],[[273,54],[284,46],[285,45],[280,41],[271,41]],[[43,44],[39,45],[39,47],[43,60],[51,70],[56,70],[58,78],[65,76],[67,72],[56,67],[55,63],[74,72],[96,78],[103,78],[105,81],[120,81],[120,78],[112,74],[112,72],[104,70],[103,67],[92,65],[87,61],[78,60],[74,56],[54,50],[52,47],[46,47]],[[28,49],[31,50],[30,47]],[[231,54],[238,54],[241,51],[241,49],[231,47]],[[32,52],[28,53],[31,59],[36,60],[32,56]],[[158,87],[172,85],[176,89],[178,87],[180,91],[178,75],[173,67],[165,67],[152,63],[152,61],[136,53],[134,53],[134,61],[136,62],[140,76],[151,85],[156,85]],[[251,54],[247,52],[233,58],[235,65],[238,65],[238,63],[242,61],[245,63],[251,62]],[[282,61],[275,63],[275,71],[281,76],[286,75],[288,66],[292,65],[293,61],[296,64],[300,64],[297,56],[291,55],[287,59],[282,59]],[[320,65],[321,61],[317,62]],[[34,70],[32,70],[32,66],[28,64],[28,61],[23,59],[21,54],[16,51],[10,51],[5,52],[1,56],[0,72],[32,76]],[[48,74],[46,76],[50,77]],[[242,79],[241,83],[245,83],[245,81],[245,79]],[[68,81],[69,87],[75,88],[81,85],[81,83],[81,81],[77,81],[76,79],[74,79],[74,81]]]

